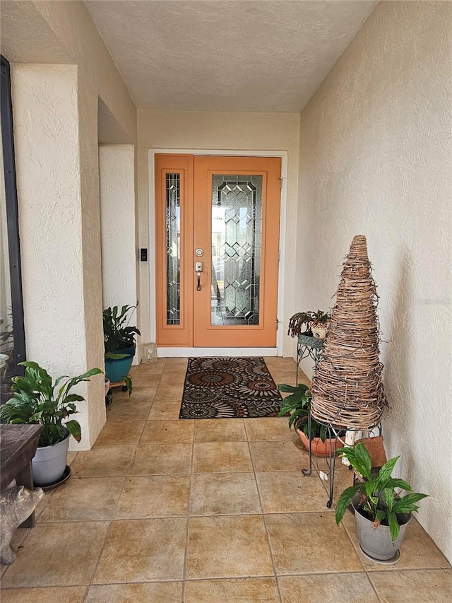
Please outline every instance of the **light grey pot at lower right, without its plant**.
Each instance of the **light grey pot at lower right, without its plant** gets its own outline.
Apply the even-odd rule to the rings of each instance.
[[[355,524],[359,546],[361,546],[364,553],[378,561],[389,561],[395,558],[398,548],[405,538],[405,530],[411,521],[412,514],[410,513],[407,516],[407,521],[400,526],[398,537],[393,543],[389,526],[380,524],[379,527],[374,529],[374,522],[363,517],[355,505],[353,505],[353,508],[355,509]]]

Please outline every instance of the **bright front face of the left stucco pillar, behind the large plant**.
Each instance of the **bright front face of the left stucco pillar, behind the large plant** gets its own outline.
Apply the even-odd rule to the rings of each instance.
[[[87,356],[77,67],[14,65],[11,76],[27,357],[54,377],[78,375]]]

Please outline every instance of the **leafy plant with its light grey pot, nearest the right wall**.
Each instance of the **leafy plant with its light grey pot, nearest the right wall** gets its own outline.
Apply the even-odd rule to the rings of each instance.
[[[337,454],[345,457],[364,481],[357,481],[355,486],[346,488],[340,495],[336,505],[336,523],[339,524],[351,504],[355,510],[357,536],[362,551],[376,561],[388,563],[393,560],[395,563],[405,529],[412,513],[419,508],[416,503],[428,495],[413,492],[406,481],[391,477],[399,457],[389,459],[375,474],[364,444],[341,448]],[[400,496],[396,488],[409,493]]]

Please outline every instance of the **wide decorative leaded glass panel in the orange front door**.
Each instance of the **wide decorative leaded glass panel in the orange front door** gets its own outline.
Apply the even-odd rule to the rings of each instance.
[[[211,321],[259,324],[262,176],[212,177]]]

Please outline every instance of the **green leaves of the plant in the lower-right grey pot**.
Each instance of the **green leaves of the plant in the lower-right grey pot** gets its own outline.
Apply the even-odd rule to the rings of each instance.
[[[377,475],[371,472],[371,457],[363,443],[359,442],[354,447],[345,447],[336,450],[336,454],[345,457],[350,465],[364,478],[364,482],[358,481],[355,486],[346,488],[340,495],[336,505],[336,523],[342,520],[345,510],[359,495],[359,502],[354,504],[355,510],[374,522],[374,529],[379,525],[388,525],[391,539],[394,542],[398,537],[400,525],[406,522],[406,516],[414,513],[419,508],[418,503],[428,494],[412,491],[412,487],[403,481],[391,477],[393,468],[399,457],[389,459],[383,464]],[[395,488],[406,490],[409,494],[399,496]],[[358,498],[358,497],[357,497]]]

